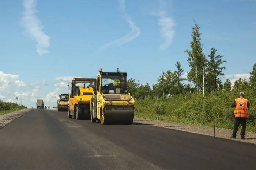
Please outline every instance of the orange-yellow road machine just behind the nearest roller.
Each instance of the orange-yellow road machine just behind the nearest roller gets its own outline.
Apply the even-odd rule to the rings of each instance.
[[[68,100],[68,118],[90,119],[90,102],[96,93],[95,78],[73,78]]]

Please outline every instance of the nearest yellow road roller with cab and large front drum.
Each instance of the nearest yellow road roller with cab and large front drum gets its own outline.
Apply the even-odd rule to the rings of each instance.
[[[100,68],[90,103],[91,122],[132,124],[135,102],[127,90],[126,72],[102,72]]]

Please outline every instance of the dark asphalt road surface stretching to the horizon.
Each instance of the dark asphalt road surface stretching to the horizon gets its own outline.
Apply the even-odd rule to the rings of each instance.
[[[256,145],[33,109],[0,130],[0,169],[256,169]]]

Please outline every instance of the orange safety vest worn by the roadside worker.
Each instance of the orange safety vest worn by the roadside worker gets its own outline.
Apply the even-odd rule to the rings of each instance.
[[[235,107],[235,117],[248,118],[249,116],[249,108],[247,107],[248,100],[245,98],[237,98],[236,107]]]

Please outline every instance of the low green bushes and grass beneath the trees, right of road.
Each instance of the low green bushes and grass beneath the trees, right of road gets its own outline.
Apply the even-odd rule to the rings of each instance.
[[[256,132],[256,97],[245,94],[248,94],[250,104],[246,131]],[[234,108],[231,108],[231,103],[235,98],[237,92],[221,91],[208,96],[193,94],[176,95],[172,99],[136,100],[135,117],[200,126],[213,127],[215,124],[215,127],[233,129]]]

